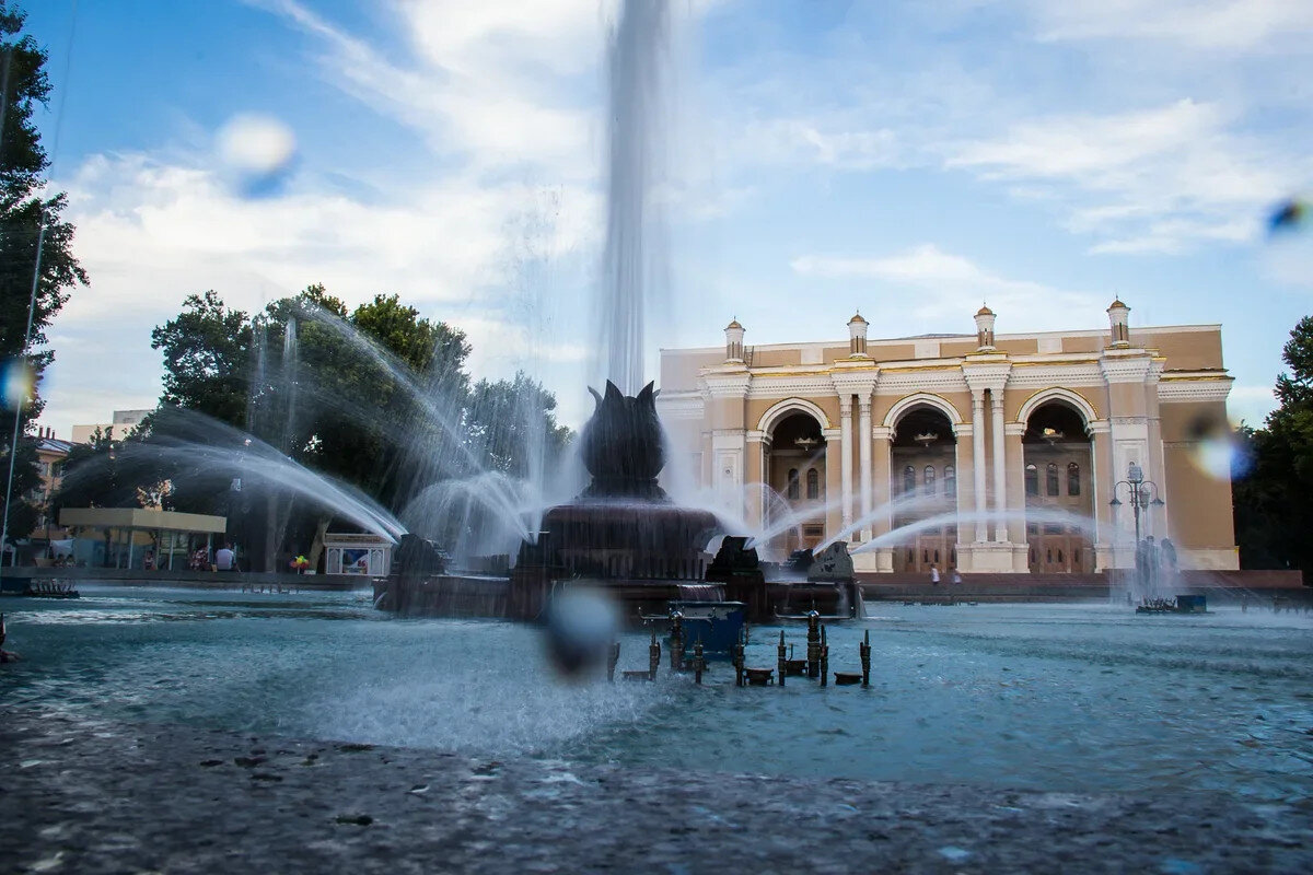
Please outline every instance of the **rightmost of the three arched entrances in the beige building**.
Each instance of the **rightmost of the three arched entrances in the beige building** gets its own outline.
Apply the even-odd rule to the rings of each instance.
[[[1022,437],[1025,466],[1025,539],[1036,573],[1094,571],[1094,451],[1085,416],[1070,403],[1040,404]],[[1082,517],[1071,525],[1062,516]]]

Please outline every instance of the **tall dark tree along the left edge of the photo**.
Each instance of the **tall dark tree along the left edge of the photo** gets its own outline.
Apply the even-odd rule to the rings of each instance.
[[[41,413],[37,384],[54,359],[45,349],[46,328],[68,300],[68,290],[87,283],[87,273],[72,254],[74,226],[60,219],[64,194],[42,197],[50,159],[33,113],[49,101],[50,80],[46,51],[22,33],[25,20],[22,12],[0,0],[0,359],[7,367],[30,371],[29,400],[20,412],[22,433]],[[12,420],[8,422],[0,428],[0,457],[7,467],[13,451]],[[39,485],[34,447],[25,443],[20,442],[14,459],[14,506],[12,512],[4,508],[11,538],[28,535],[37,518],[24,499]]]

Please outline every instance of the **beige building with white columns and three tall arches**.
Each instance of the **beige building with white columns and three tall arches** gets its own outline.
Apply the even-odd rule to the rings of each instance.
[[[859,571],[1233,569],[1220,325],[662,350],[675,453],[776,556],[847,539]],[[1221,455],[1218,455],[1221,449]],[[1221,470],[1218,470],[1221,459]],[[678,464],[678,460],[676,460]],[[1136,483],[1129,480],[1134,479]],[[1142,483],[1141,483],[1142,481]]]

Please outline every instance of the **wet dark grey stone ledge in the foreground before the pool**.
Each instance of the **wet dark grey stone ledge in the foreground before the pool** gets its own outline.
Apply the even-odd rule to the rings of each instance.
[[[3,872],[1304,872],[1313,802],[502,761],[0,720]]]

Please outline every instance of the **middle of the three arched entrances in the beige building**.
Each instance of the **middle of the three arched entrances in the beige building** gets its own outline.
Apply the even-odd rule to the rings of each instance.
[[[901,529],[957,509],[957,437],[943,411],[918,404],[894,424],[890,446],[893,523]],[[916,529],[894,547],[894,571],[947,572],[957,564],[957,523]]]

